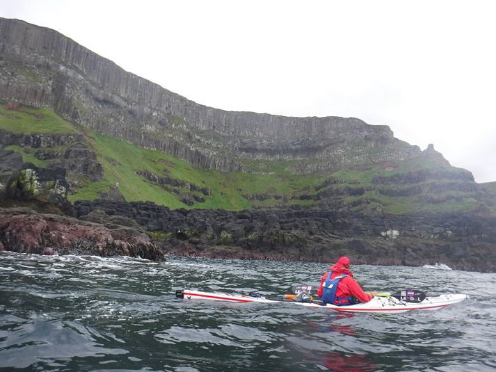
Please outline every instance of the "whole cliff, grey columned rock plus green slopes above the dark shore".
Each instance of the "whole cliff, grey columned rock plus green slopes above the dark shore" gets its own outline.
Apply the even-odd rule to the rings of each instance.
[[[195,104],[61,33],[15,19],[0,18],[0,103],[0,145],[38,168],[63,168],[71,201],[299,205],[367,216],[481,204],[495,211],[492,188],[432,145],[420,151],[394,138],[389,127]],[[13,179],[1,178],[6,193]]]

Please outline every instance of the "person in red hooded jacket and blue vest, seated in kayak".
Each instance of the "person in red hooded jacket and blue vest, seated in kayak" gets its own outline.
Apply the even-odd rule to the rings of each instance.
[[[349,270],[350,259],[346,256],[339,257],[330,271],[322,276],[317,295],[326,303],[344,306],[353,305],[357,302],[369,302],[375,292],[366,293],[360,284],[353,279],[353,273]]]

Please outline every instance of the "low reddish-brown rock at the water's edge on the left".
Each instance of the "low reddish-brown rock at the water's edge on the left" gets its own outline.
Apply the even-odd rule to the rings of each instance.
[[[26,209],[0,209],[0,250],[163,260],[161,250],[139,229],[110,227]]]

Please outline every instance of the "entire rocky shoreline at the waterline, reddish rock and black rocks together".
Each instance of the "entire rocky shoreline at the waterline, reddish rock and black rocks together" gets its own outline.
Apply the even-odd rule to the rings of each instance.
[[[235,259],[423,266],[496,272],[496,218],[443,215],[365,217],[339,211],[171,210],[151,202],[74,204],[72,217],[0,209],[0,250],[35,254],[167,254]]]

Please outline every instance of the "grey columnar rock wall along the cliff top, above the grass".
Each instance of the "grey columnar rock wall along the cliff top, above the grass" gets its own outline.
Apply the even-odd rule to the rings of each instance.
[[[355,118],[287,118],[195,104],[56,31],[0,18],[0,101],[13,99],[204,168],[248,171],[247,159],[277,159],[307,173],[422,154],[389,127]]]

